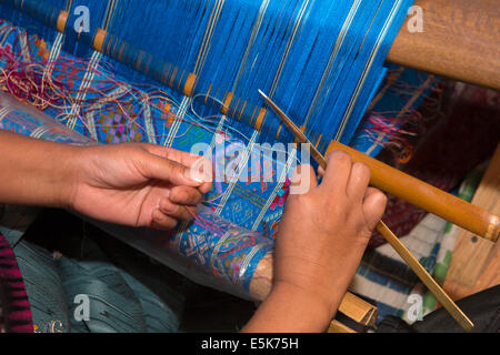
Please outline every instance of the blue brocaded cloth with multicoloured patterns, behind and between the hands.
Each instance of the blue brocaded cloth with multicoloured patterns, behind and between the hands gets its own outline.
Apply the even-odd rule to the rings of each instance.
[[[4,22],[0,23],[0,32],[2,31],[6,36],[3,37],[3,42],[0,43],[0,47],[3,45],[4,50],[8,52],[18,50],[16,43],[22,38],[32,45],[29,47],[29,55],[39,58],[39,60],[42,60],[43,57],[46,57],[46,50],[57,50],[58,53],[61,50],[60,48],[57,48],[57,44],[51,47],[49,43],[43,42],[43,51],[41,51],[39,47],[41,45],[41,42],[37,40],[37,38],[28,40],[26,39],[26,32],[12,28]],[[71,64],[74,64],[77,68],[78,65],[83,65],[76,58],[70,55],[64,57],[66,54],[60,55],[61,58],[69,58],[69,62],[66,62],[64,65],[54,65],[52,68],[51,74],[54,78],[66,75],[68,70],[70,70],[68,65],[71,67]],[[9,61],[7,60],[7,64],[8,63]],[[47,68],[44,67],[44,69]],[[81,69],[83,71],[84,67]],[[189,151],[193,142],[197,142],[198,144],[206,143],[212,150],[211,154],[213,155],[213,161],[218,162],[214,164],[216,173],[226,173],[226,169],[230,164],[236,168],[236,179],[229,179],[224,180],[224,182],[217,183],[213,190],[208,194],[207,202],[211,210],[210,213],[214,214],[218,219],[231,221],[231,223],[251,232],[260,233],[268,241],[272,240],[277,222],[281,217],[282,207],[288,195],[289,183],[287,175],[290,174],[290,171],[297,163],[296,151],[290,153],[290,156],[286,162],[276,162],[274,164],[271,163],[270,166],[267,166],[267,162],[273,162],[273,160],[272,158],[269,160],[266,155],[267,153],[258,146],[257,139],[259,134],[257,131],[249,138],[248,144],[243,144],[240,139],[234,139],[227,132],[224,116],[212,122],[208,121],[207,124],[216,124],[212,129],[208,129],[204,124],[193,124],[194,118],[189,115],[189,112],[187,112],[188,108],[186,105],[182,106],[176,104],[174,101],[169,99],[170,97],[164,95],[161,92],[148,93],[123,82],[117,83],[116,80],[110,81],[110,77],[101,71],[97,64],[93,68],[92,75],[93,80],[87,83],[87,89],[88,92],[94,92],[93,98],[98,99],[90,101],[92,104],[92,110],[90,111],[92,114],[100,112],[101,118],[107,118],[106,120],[109,118],[112,122],[107,121],[104,125],[89,126],[88,124],[84,124],[84,122],[77,122],[78,120],[76,119],[69,119],[69,121],[66,121],[64,123],[74,131],[81,133],[79,138],[74,138],[71,134],[62,134],[61,126],[48,123],[46,119],[40,119],[38,114],[34,114],[29,109],[11,110],[3,108],[3,110],[0,111],[0,128],[34,138],[79,144],[88,144],[88,142],[90,142],[88,138],[83,138],[86,135],[101,143],[117,143],[131,141],[131,134],[133,138],[138,138],[138,140],[140,139],[150,143],[159,143],[157,138],[161,136],[168,141],[168,144],[167,141],[164,141],[167,145],[183,151]],[[76,79],[71,78],[71,80]],[[112,100],[131,100],[131,104],[127,106],[127,110],[121,105],[111,105],[110,102],[102,102],[101,99],[103,99],[103,97],[97,93],[103,91],[108,92],[108,90],[111,90]],[[156,95],[159,99],[153,99],[152,95]],[[91,94],[89,94],[89,97],[91,97]],[[136,97],[143,98],[143,100],[137,101]],[[110,97],[108,95],[106,99],[110,100]],[[163,99],[166,101],[163,101]],[[114,101],[112,102],[114,103]],[[170,111],[166,112],[166,108]],[[69,108],[63,106],[61,109],[49,106],[47,108],[46,113],[49,113],[53,118],[59,118],[61,115],[68,116],[64,114],[67,109]],[[128,115],[129,120],[127,122],[130,122],[131,116],[134,118],[136,121],[130,123],[131,125],[129,125],[129,123],[123,123],[124,121],[122,122],[122,119],[124,115]],[[121,119],[118,116],[121,116]],[[182,118],[182,120],[180,118]],[[118,125],[116,124],[117,122],[119,122]],[[142,133],[139,134],[133,130],[136,124],[146,128],[142,130]],[[156,134],[148,135],[147,133],[150,132],[151,129],[153,129]],[[67,130],[67,132],[69,131]],[[184,133],[178,134],[178,132]],[[117,138],[118,141],[116,140]],[[226,161],[228,158],[229,160]],[[260,179],[253,176],[253,170],[250,170],[253,169],[254,164],[261,164],[260,166],[263,166],[260,173],[261,175],[259,176]],[[247,179],[244,179],[244,176],[247,176]],[[207,217],[209,216],[207,215]],[[211,256],[213,248],[206,245],[204,235],[200,234],[200,226],[211,222],[203,219],[197,220],[197,222],[198,225],[197,223],[191,225],[184,223],[179,226],[179,232],[176,234],[177,237],[171,239],[171,244],[173,247],[179,248],[179,252],[182,255],[192,255],[193,251],[202,248],[206,251],[206,255],[200,255],[200,260],[202,258],[209,263],[213,260]],[[212,236],[220,236],[224,233],[224,230],[219,229],[219,232]],[[169,236],[161,235],[160,237],[164,240]],[[229,240],[234,241],[234,239],[228,239],[228,241]],[[229,273],[228,271],[218,270],[217,267],[211,266],[213,268],[212,273],[216,274],[216,277],[223,277],[229,283],[237,282],[248,287],[253,272],[252,267],[257,266],[259,257],[263,256],[264,248],[262,246],[267,247],[267,244],[269,244],[268,241],[262,239],[262,243],[260,244],[249,244],[243,248],[231,248],[231,252],[220,261],[220,264],[224,265],[224,261],[248,260],[246,263],[248,263],[249,267],[244,268],[246,273],[240,275],[239,271],[243,268],[239,268],[236,263],[231,264],[231,267],[236,267],[236,270],[230,270]],[[201,263],[203,265],[207,264],[203,261],[201,261]],[[232,276],[229,275],[231,273]]]

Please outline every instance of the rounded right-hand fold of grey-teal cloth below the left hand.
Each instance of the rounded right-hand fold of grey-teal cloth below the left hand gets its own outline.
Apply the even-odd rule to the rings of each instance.
[[[173,333],[179,329],[178,314],[164,298],[113,265],[90,239],[72,240],[81,245],[81,256],[74,258],[57,253],[54,257],[69,305],[71,333]],[[146,277],[144,271],[140,275]],[[168,287],[168,280],[162,286]],[[80,311],[87,297],[88,318]]]

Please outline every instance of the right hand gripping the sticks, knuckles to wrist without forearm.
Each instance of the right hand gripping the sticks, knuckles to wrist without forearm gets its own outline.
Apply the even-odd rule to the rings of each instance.
[[[312,168],[301,166],[310,174],[311,186],[287,202],[277,236],[274,285],[314,295],[333,315],[338,295],[343,296],[354,276],[387,197],[368,186],[367,165],[352,164],[343,152],[333,152],[327,161],[320,185]]]

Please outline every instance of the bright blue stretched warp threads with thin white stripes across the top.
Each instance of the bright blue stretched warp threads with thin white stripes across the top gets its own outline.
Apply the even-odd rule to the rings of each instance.
[[[96,32],[103,28],[108,36],[102,51],[118,74],[134,82],[153,79],[182,92],[192,73],[192,94],[214,98],[207,97],[209,104],[197,100],[202,115],[226,103],[234,128],[249,134],[259,128],[262,142],[291,141],[272,114],[260,115],[261,89],[324,152],[331,140],[350,142],[386,73],[383,61],[411,3],[4,0],[0,9],[3,13],[14,7],[44,27],[53,27],[64,9],[70,13],[64,50],[91,57]],[[89,33],[74,32],[79,6],[90,9]],[[23,21],[30,20],[17,22]]]

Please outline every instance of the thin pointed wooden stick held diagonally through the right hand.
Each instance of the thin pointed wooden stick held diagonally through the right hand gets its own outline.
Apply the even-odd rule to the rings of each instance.
[[[307,143],[310,145],[311,155],[318,162],[318,164],[327,169],[327,160],[314,148],[302,131],[284,114],[283,111],[278,108],[262,91],[259,91],[264,98],[266,102],[277,112],[278,116],[283,123],[293,132],[300,143]],[[463,312],[454,304],[454,302],[446,294],[446,292],[438,285],[438,283],[429,275],[426,268],[420,265],[418,260],[410,253],[410,251],[402,244],[402,242],[389,230],[389,227],[380,221],[377,225],[377,230],[388,243],[394,248],[394,251],[401,256],[401,258],[411,267],[422,283],[429,288],[429,291],[441,302],[443,307],[450,313],[450,315],[457,321],[460,326],[466,331],[473,328],[473,323],[463,314]]]

